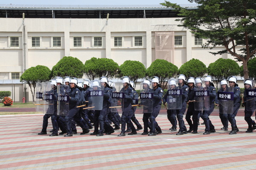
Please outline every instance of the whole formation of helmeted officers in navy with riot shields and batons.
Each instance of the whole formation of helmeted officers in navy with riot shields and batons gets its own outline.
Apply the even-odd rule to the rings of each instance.
[[[169,130],[177,131],[177,124],[179,125],[176,135],[198,133],[200,117],[205,124],[203,134],[214,133],[215,127],[209,115],[215,105],[219,107],[219,117],[223,124],[221,130],[228,130],[230,122],[232,129],[229,134],[236,134],[239,129],[235,117],[241,100],[244,119],[248,124],[246,132],[256,129],[256,123],[251,119],[256,109],[256,89],[250,79],[244,80],[245,90],[241,100],[235,76],[222,79],[217,93],[212,77],[189,77],[186,81],[186,77],[180,74],[168,80],[168,91],[164,96],[158,77],[144,79],[140,83],[140,96],[134,89],[134,82],[126,76],[121,79],[122,82],[110,82],[107,77],[101,77],[99,80],[78,82],[74,77],[55,77],[50,82],[38,83],[35,105],[38,111],[45,113],[43,128],[38,135],[47,134],[48,119],[51,118],[53,129],[49,136],[73,136],[77,133],[76,125],[81,127],[81,135],[89,133],[93,126],[94,131],[90,135],[110,135],[114,130],[120,129],[120,124],[121,133],[117,136],[125,136],[126,132],[129,132],[128,135],[135,135],[142,129],[141,135],[155,136],[162,133],[156,122],[162,103],[172,124]],[[183,121],[187,105],[185,118],[189,130]],[[143,108],[144,127],[135,117],[137,106]],[[122,113],[121,117],[119,113]],[[58,130],[61,132],[58,133]]]

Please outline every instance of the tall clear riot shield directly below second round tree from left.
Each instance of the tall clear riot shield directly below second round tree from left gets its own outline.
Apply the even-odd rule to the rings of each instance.
[[[57,85],[57,115],[67,116],[69,114],[69,85]]]

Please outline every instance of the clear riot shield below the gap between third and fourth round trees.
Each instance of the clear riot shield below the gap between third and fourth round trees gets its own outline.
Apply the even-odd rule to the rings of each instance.
[[[115,113],[122,113],[123,109],[123,102],[125,93],[121,91],[123,88],[122,82],[114,82],[114,87],[112,89],[112,96],[111,96],[111,112]]]

